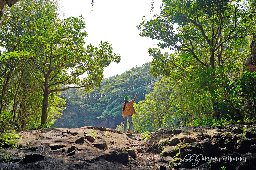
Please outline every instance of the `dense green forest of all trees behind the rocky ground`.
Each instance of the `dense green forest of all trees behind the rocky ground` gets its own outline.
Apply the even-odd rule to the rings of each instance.
[[[136,92],[138,133],[255,122],[255,14],[252,0],[163,0],[137,26],[159,42],[152,62],[103,79],[120,56],[107,41],[85,45],[82,16],[61,19],[57,0],[18,1],[0,21],[1,125],[121,130],[123,98]]]

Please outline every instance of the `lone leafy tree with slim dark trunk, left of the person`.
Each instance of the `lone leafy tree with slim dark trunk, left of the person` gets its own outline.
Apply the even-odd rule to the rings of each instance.
[[[83,17],[58,21],[55,13],[45,14],[33,24],[36,35],[24,39],[24,46],[31,49],[26,60],[43,90],[41,125],[46,123],[49,94],[69,88],[90,91],[99,87],[104,68],[112,61],[120,61],[108,42],[100,42],[99,48],[91,44],[83,47],[87,35]],[[87,76],[79,79],[83,74]]]

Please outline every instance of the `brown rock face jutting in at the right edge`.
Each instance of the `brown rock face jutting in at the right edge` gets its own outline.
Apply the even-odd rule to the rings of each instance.
[[[247,55],[247,57],[243,61],[243,65],[247,68],[249,72],[256,72],[256,35],[253,36],[253,41],[250,45],[251,54]]]

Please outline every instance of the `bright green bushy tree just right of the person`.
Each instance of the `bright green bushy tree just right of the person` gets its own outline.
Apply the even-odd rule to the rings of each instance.
[[[135,105],[136,113],[133,115],[135,130],[142,133],[157,130],[162,125],[164,127],[179,126],[176,106],[170,100],[173,95],[174,91],[169,78],[164,77],[157,82],[154,90],[145,95],[145,100]]]

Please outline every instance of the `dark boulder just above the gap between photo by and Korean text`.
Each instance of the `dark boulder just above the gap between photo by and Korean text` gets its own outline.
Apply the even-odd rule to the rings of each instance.
[[[204,148],[204,152],[209,156],[217,156],[220,152],[220,148],[217,143],[213,143],[211,139],[204,139],[200,142]]]

